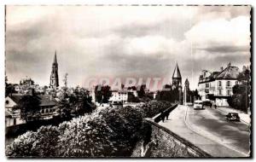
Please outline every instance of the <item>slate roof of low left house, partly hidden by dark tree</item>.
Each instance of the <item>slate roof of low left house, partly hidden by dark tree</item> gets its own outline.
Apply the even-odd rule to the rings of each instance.
[[[22,96],[24,95],[11,95],[9,96],[15,103],[19,103],[21,100]],[[41,101],[40,107],[44,106],[55,106],[57,101],[55,100],[54,97],[51,97],[52,99],[50,100],[50,95],[36,95],[38,99]]]

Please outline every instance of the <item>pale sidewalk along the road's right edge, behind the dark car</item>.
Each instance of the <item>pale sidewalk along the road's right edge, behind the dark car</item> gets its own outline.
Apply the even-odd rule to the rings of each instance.
[[[243,113],[240,110],[236,110],[236,109],[231,108],[231,107],[217,107],[217,109],[219,111],[224,112],[224,113],[238,113],[242,122],[244,122],[245,124],[251,124],[250,115],[247,114],[247,113]]]

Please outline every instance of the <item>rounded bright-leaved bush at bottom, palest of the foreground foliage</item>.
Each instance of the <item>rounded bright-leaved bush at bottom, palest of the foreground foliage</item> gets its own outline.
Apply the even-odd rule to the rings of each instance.
[[[115,148],[109,137],[112,130],[101,115],[85,115],[68,123],[60,136],[59,156],[101,157],[109,156]]]

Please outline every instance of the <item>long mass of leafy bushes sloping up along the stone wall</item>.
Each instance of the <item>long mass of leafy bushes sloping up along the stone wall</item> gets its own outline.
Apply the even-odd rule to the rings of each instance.
[[[149,101],[137,107],[108,107],[55,126],[19,136],[7,155],[39,157],[130,156],[144,136],[143,118],[160,113],[171,103]]]

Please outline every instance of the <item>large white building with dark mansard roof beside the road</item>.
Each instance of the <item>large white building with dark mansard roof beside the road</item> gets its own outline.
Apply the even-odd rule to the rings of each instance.
[[[233,95],[232,88],[238,83],[238,74],[239,68],[231,67],[230,64],[224,69],[221,68],[220,72],[203,70],[198,83],[201,100],[214,100],[219,107],[229,106],[227,99]]]

